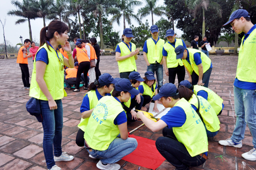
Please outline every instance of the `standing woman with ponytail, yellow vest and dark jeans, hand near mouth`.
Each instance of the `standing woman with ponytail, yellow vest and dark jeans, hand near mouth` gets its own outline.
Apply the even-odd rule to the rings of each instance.
[[[39,99],[43,117],[43,152],[47,168],[51,170],[61,169],[57,167],[57,161],[72,161],[73,156],[62,152],[62,127],[63,108],[61,99],[66,94],[64,90],[63,64],[74,67],[73,57],[65,58],[58,51],[58,45],[62,45],[68,56],[71,56],[71,47],[68,39],[68,26],[53,20],[40,32],[40,49],[36,54],[31,79],[29,96]],[[53,156],[54,148],[54,156]]]

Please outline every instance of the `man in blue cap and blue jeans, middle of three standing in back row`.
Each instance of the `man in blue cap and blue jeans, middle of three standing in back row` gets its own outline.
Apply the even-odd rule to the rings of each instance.
[[[147,64],[147,71],[151,71],[156,74],[157,86],[160,88],[163,86],[163,46],[164,39],[159,38],[158,27],[152,25],[150,27],[151,38],[147,39],[143,47],[143,57]]]

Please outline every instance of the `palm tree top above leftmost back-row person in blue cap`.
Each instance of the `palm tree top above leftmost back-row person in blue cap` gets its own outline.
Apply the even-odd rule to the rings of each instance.
[[[136,0],[121,0],[118,1],[116,7],[109,8],[107,13],[114,14],[111,19],[111,22],[117,22],[120,26],[120,19],[124,17],[124,29],[125,29],[125,19],[127,20],[128,24],[131,24],[131,18],[134,18],[137,22],[140,23],[140,19],[133,14],[134,7],[140,6],[142,3]]]

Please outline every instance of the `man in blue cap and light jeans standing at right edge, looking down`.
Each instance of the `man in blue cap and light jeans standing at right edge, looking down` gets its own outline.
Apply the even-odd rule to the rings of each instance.
[[[256,25],[250,21],[250,14],[244,9],[233,12],[229,21],[235,33],[244,32],[238,56],[237,75],[234,81],[234,100],[237,122],[232,137],[219,141],[221,145],[242,147],[242,139],[246,124],[253,136],[253,149],[243,153],[242,157],[249,161],[256,161]]]

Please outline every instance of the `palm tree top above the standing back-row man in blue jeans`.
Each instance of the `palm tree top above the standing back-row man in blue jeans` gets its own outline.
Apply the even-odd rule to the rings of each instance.
[[[142,17],[146,17],[151,14],[152,25],[154,25],[153,14],[161,17],[163,14],[165,14],[165,7],[164,6],[156,6],[156,3],[159,0],[144,0],[144,1],[146,3],[146,6],[143,8],[140,8],[137,14],[140,16],[140,19]]]

